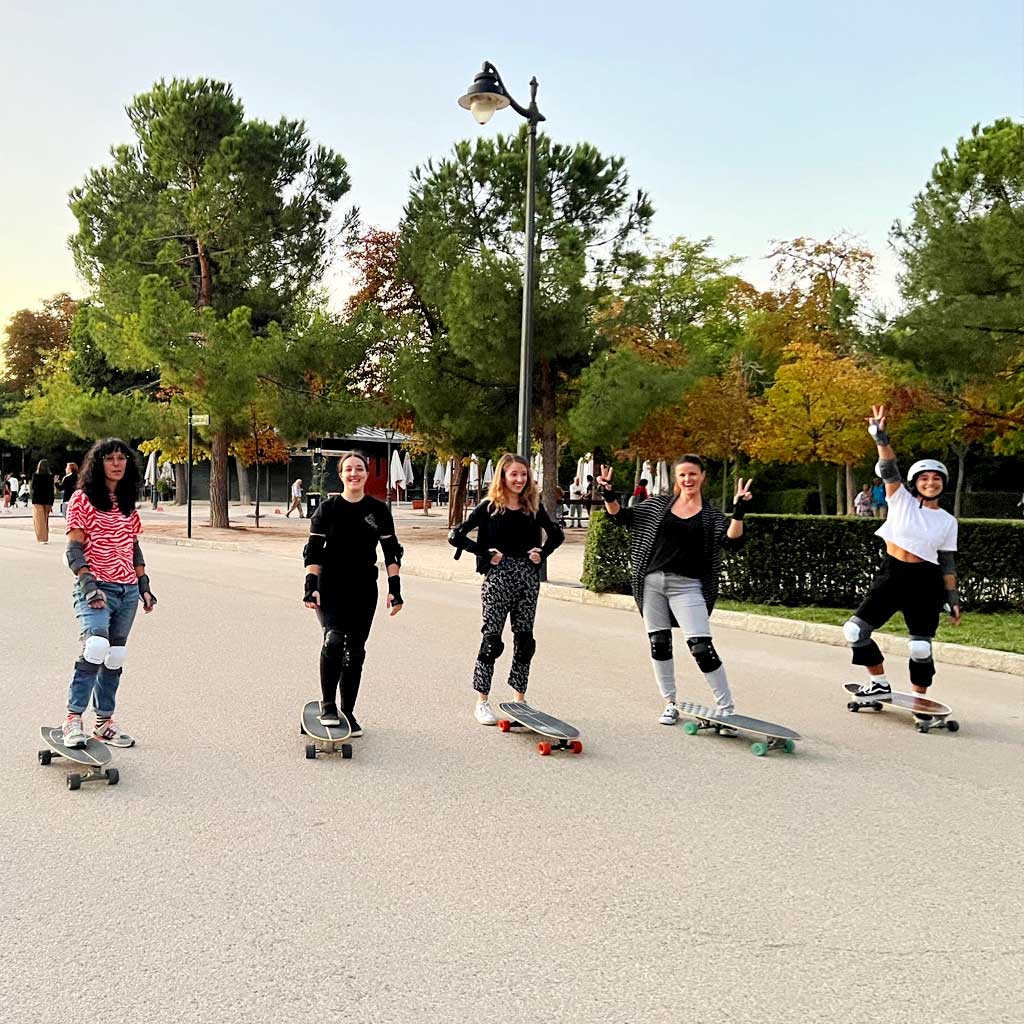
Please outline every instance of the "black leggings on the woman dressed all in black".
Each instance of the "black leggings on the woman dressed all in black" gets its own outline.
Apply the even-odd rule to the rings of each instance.
[[[348,580],[343,591],[333,587],[330,580],[322,586],[321,606],[316,609],[324,627],[321,698],[325,703],[336,703],[340,686],[341,709],[347,715],[355,710],[359,695],[367,637],[377,610],[377,580]]]

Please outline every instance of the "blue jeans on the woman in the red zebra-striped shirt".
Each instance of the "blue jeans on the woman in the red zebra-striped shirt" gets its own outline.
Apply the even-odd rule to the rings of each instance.
[[[103,637],[111,647],[124,647],[138,611],[138,584],[100,581],[98,586],[106,604],[102,608],[91,608],[78,584],[75,584],[75,614],[82,628],[82,640]],[[75,663],[75,673],[68,688],[68,711],[81,715],[89,707],[89,698],[93,697],[93,706],[100,718],[114,715],[121,668],[112,669],[106,664],[109,660],[108,656],[102,665],[96,665],[83,656]]]

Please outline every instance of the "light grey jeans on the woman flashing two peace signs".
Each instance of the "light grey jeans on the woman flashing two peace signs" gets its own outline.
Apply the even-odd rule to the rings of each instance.
[[[674,572],[649,572],[643,581],[643,623],[648,636],[671,630],[673,616],[687,640],[702,638],[710,644],[711,624],[700,581],[676,575]],[[712,652],[714,653],[714,648]],[[715,659],[717,660],[717,655]],[[650,664],[662,696],[674,701],[676,669],[671,654],[668,659],[651,657]],[[705,672],[703,677],[715,694],[719,710],[732,712],[734,706],[725,667],[719,664],[717,668]]]

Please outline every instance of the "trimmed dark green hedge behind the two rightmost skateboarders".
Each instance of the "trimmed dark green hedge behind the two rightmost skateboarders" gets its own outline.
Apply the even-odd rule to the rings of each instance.
[[[881,562],[877,519],[749,515],[746,545],[723,553],[722,597],[758,604],[855,607]],[[628,537],[603,513],[587,536],[583,584],[628,594]],[[956,555],[965,607],[1024,610],[1024,522],[962,519]]]

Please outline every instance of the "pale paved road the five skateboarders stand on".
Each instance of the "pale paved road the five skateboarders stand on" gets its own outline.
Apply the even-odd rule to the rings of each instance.
[[[721,630],[740,709],[806,736],[756,758],[656,724],[635,614],[543,601],[531,695],[587,750],[540,758],[471,718],[476,590],[411,578],[355,757],[307,762],[301,568],[148,554],[139,745],[69,793],[35,752],[70,577],[0,528],[4,1024],[1020,1021],[1022,680],[944,671],[962,731],[921,736],[846,712],[842,651]]]

